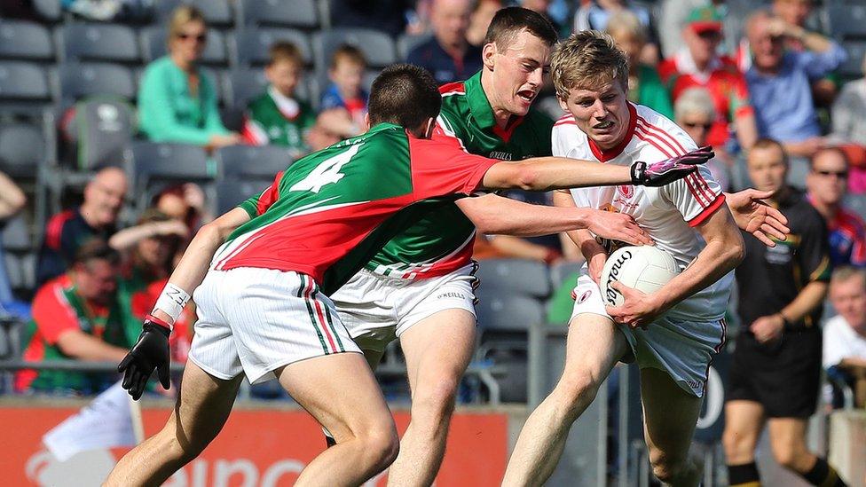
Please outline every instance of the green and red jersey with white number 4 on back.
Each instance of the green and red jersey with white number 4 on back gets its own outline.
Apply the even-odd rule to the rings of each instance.
[[[232,232],[214,269],[298,271],[329,295],[420,215],[475,192],[496,162],[380,123],[295,161],[241,203],[252,219]]]

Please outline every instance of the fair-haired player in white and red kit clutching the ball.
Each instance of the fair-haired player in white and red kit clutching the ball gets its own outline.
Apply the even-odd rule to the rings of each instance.
[[[627,165],[697,149],[665,116],[627,100],[628,61],[609,35],[583,31],[559,43],[551,75],[560,105],[569,112],[555,123],[555,155]],[[557,206],[634,216],[656,247],[614,252],[616,242],[600,243],[587,231],[569,232],[587,266],[574,290],[565,369],[526,420],[503,484],[544,483],[559,461],[571,424],[592,403],[610,370],[620,360],[634,360],[641,368],[644,436],[653,473],[664,483],[697,485],[700,468],[689,460],[689,444],[707,368],[725,342],[731,271],[744,257],[725,194],[701,167],[658,188],[586,188],[556,192],[554,200]],[[668,265],[665,258],[672,259]],[[638,277],[635,270],[642,265],[656,268]],[[664,285],[651,294],[618,280],[629,274],[631,282],[651,285],[652,273]],[[608,284],[603,295],[600,285]]]

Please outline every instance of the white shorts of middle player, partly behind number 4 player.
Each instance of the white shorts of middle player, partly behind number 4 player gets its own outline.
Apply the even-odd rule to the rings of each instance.
[[[362,350],[384,351],[411,326],[442,310],[475,316],[476,263],[430,279],[396,279],[361,270],[331,295]]]

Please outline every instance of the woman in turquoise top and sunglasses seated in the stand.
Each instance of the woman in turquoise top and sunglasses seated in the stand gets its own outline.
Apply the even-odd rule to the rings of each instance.
[[[182,5],[169,23],[169,55],[145,69],[138,87],[141,130],[156,142],[202,145],[208,150],[240,143],[216,107],[216,83],[199,67],[208,29],[201,12]]]

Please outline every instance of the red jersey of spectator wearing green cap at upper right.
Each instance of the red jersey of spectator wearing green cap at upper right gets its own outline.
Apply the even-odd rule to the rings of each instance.
[[[710,67],[702,73],[697,71],[689,51],[680,51],[658,65],[658,74],[671,90],[674,103],[682,92],[689,88],[705,88],[710,92],[716,109],[716,120],[712,122],[706,142],[713,147],[725,145],[730,137],[730,123],[734,122],[736,117],[753,112],[745,77],[733,59],[713,59]]]

